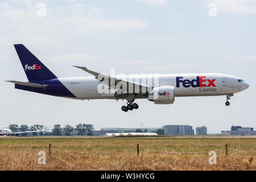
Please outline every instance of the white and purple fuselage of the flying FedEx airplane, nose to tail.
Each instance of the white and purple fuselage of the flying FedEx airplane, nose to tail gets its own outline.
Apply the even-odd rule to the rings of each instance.
[[[241,92],[249,86],[239,77],[221,73],[127,75],[119,76],[119,78],[139,83],[151,80],[152,86],[174,86],[175,97],[221,96]],[[155,79],[158,79],[158,81]],[[95,77],[62,77],[52,80],[32,81],[32,83],[48,86],[46,88],[30,88],[15,84],[15,88],[79,100],[116,99],[114,92],[98,92],[100,81]]]

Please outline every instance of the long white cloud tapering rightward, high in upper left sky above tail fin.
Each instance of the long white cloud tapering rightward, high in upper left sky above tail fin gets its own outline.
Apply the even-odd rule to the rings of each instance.
[[[24,1],[30,2],[30,1]],[[37,3],[27,6],[14,6],[11,3],[0,3],[0,33],[19,30],[19,35],[58,34],[73,32],[74,34],[93,34],[98,31],[126,31],[147,26],[137,18],[106,18],[104,10],[75,3],[71,6],[47,7],[46,17],[38,16]],[[65,11],[67,14],[61,14]],[[47,34],[48,35],[48,34]],[[57,36],[57,35],[55,35]]]

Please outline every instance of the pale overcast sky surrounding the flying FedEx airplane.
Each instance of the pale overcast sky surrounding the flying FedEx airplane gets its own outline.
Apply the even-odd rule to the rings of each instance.
[[[46,16],[42,16],[42,4]],[[217,11],[214,11],[214,9]],[[40,15],[40,16],[39,16]],[[92,123],[101,127],[232,125],[254,127],[256,1],[254,0],[0,0],[0,128]],[[13,44],[22,43],[59,77],[89,76],[72,67],[110,73],[219,72],[243,78],[249,89],[225,96],[176,97],[172,105],[137,100],[69,100],[14,89],[27,81]]]

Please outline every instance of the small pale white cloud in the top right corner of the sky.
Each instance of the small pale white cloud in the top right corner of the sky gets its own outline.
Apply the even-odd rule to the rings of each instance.
[[[235,14],[256,14],[255,0],[207,0],[216,3],[217,11]]]

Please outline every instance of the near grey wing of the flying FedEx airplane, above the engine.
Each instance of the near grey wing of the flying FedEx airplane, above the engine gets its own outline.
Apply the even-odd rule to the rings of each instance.
[[[94,75],[95,78],[99,81],[103,81],[105,79],[108,79],[109,80],[108,84],[106,84],[108,86],[112,86],[113,84],[115,84],[115,85],[117,85],[117,84],[122,84],[122,85],[124,85],[124,84],[133,84],[133,86],[135,86],[137,88],[143,88],[143,90],[152,89],[152,86],[149,86],[149,85],[123,80],[122,78],[118,78],[118,77],[112,77],[112,76],[104,75],[102,73],[91,71],[91,70],[89,70],[85,67],[78,67],[78,66],[73,66],[73,67],[82,69],[82,70]]]

